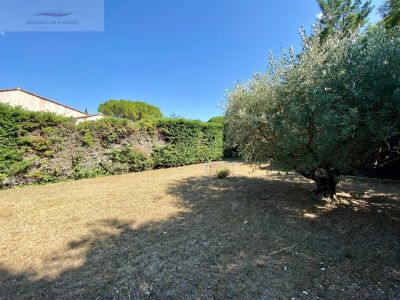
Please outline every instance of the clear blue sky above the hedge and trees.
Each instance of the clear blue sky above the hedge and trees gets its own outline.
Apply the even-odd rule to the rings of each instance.
[[[0,88],[91,113],[128,99],[208,120],[269,50],[299,49],[297,29],[318,13],[315,0],[105,0],[104,32],[2,32]]]

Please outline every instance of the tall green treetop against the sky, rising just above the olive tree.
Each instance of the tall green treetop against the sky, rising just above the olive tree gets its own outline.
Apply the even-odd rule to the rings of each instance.
[[[372,11],[371,0],[317,0],[321,17],[317,21],[320,27],[321,41],[334,33],[348,36],[359,30],[367,22]]]

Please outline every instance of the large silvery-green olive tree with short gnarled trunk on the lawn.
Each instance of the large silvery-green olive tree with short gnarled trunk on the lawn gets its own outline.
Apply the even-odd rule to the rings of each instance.
[[[348,174],[399,128],[400,35],[305,38],[303,51],[269,60],[265,74],[237,84],[226,123],[242,156],[295,170],[336,193]]]

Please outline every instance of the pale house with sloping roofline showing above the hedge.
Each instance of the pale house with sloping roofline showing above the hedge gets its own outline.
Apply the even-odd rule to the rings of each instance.
[[[65,117],[73,117],[77,123],[104,118],[103,114],[89,115],[20,88],[0,89],[0,103],[14,107],[19,106],[30,111],[52,112]]]

